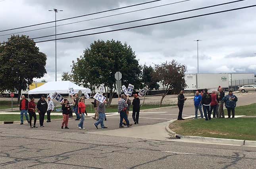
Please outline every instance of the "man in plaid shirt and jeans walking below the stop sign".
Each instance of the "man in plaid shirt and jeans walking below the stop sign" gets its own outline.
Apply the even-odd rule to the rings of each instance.
[[[119,127],[122,128],[123,127],[123,119],[125,119],[126,123],[127,123],[127,127],[131,127],[132,124],[129,123],[129,120],[127,118],[127,114],[126,114],[126,109],[127,109],[128,104],[125,102],[125,95],[121,94],[121,99],[118,102],[118,113],[120,113],[120,123],[119,123]]]

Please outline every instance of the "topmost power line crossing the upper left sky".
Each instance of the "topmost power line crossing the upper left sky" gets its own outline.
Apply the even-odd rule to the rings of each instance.
[[[68,18],[65,18],[65,19],[56,20],[56,22],[58,22],[58,21],[64,21],[64,20],[68,20],[68,19],[74,19],[74,18],[78,18],[78,17],[84,17],[84,16],[89,16],[89,15],[94,15],[94,14],[98,14],[98,13],[104,13],[104,12],[110,12],[110,11],[114,11],[114,10],[120,10],[120,9],[124,9],[124,8],[129,8],[129,7],[133,7],[133,6],[139,6],[139,5],[143,5],[143,4],[149,4],[149,3],[152,3],[152,2],[158,2],[158,1],[162,1],[162,0],[153,0],[153,1],[149,1],[149,2],[143,2],[143,3],[140,3],[140,4],[134,4],[134,5],[129,5],[129,6],[123,6],[123,7],[120,7],[120,8],[114,8],[114,9],[111,9],[111,10],[105,10],[105,11],[100,11],[100,12],[94,12],[94,13],[89,13],[89,14],[85,14],[85,15],[75,16],[75,17],[68,17]],[[2,30],[2,31],[0,31],[0,32],[10,31],[10,30],[14,30],[14,29],[21,29],[21,28],[26,28],[26,27],[33,27],[33,26],[43,25],[43,24],[46,24],[46,23],[53,23],[53,22],[55,22],[55,21],[49,21],[49,22],[44,22],[44,23],[37,23],[37,24],[34,24],[34,25],[28,25],[28,26],[17,27],[17,28],[12,28],[12,29],[5,29],[5,30]]]

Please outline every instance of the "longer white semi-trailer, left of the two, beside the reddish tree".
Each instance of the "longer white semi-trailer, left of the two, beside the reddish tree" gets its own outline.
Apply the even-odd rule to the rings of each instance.
[[[185,74],[185,83],[187,87],[185,90],[203,90],[207,88],[209,92],[217,90],[218,86],[229,88],[228,73],[192,73]]]

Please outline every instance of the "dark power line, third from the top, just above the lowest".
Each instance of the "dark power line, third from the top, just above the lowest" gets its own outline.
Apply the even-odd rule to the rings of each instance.
[[[144,20],[148,20],[148,19],[154,19],[154,18],[158,18],[158,17],[175,15],[175,14],[179,14],[179,13],[191,12],[191,11],[196,11],[196,10],[202,10],[202,9],[206,9],[206,8],[212,8],[212,7],[216,7],[216,6],[221,6],[221,5],[226,5],[226,4],[231,4],[231,3],[235,3],[235,2],[241,2],[241,1],[244,1],[244,0],[236,0],[236,1],[232,1],[232,2],[226,2],[226,3],[223,3],[223,4],[216,4],[216,5],[206,6],[206,7],[202,7],[202,8],[196,8],[196,9],[192,9],[192,10],[186,10],[186,11],[181,11],[181,12],[169,13],[169,14],[165,14],[165,15],[148,17],[148,18],[144,18],[144,19],[137,19],[137,20],[134,20],[134,21],[115,23],[115,24],[111,24],[111,25],[105,25],[105,26],[94,27],[94,28],[89,28],[89,29],[82,29],[82,30],[78,30],[78,31],[71,31],[71,32],[66,32],[66,33],[58,33],[56,35],[65,35],[65,34],[69,34],[69,33],[76,33],[76,32],[81,32],[81,31],[89,31],[89,30],[92,30],[92,29],[99,29],[99,28],[116,26],[116,25],[122,25],[122,24],[126,24],[126,23],[137,22],[137,21],[144,21]],[[46,37],[50,37],[50,36],[55,36],[55,34],[54,35],[39,36],[39,37],[36,37],[36,38],[30,38],[30,39],[46,38]]]

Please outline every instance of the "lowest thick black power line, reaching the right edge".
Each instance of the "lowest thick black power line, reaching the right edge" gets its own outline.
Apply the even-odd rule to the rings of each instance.
[[[218,11],[218,12],[205,13],[205,14],[201,14],[201,15],[194,15],[194,16],[191,16],[191,17],[183,17],[183,18],[179,18],[179,19],[173,19],[173,20],[168,20],[168,21],[150,23],[150,24],[145,24],[145,25],[138,25],[138,26],[133,26],[133,27],[126,27],[126,28],[121,28],[121,29],[114,29],[114,30],[110,30],[110,31],[102,31],[102,32],[90,33],[90,34],[84,34],[84,35],[77,35],[77,36],[68,36],[68,37],[64,37],[64,38],[57,38],[56,40],[62,40],[62,39],[68,39],[68,38],[76,38],[76,37],[89,36],[89,35],[97,35],[97,34],[102,34],[102,33],[122,31],[122,30],[126,30],[126,29],[134,29],[134,28],[138,28],[138,27],[146,27],[146,26],[150,26],[150,25],[158,25],[158,24],[162,24],[162,23],[181,21],[181,20],[185,20],[185,19],[202,17],[202,16],[206,16],[206,15],[213,15],[213,14],[217,14],[217,13],[230,12],[230,11],[241,10],[241,9],[245,9],[245,8],[252,8],[252,7],[255,7],[255,6],[256,5],[244,6],[244,7],[241,7],[241,8],[233,8],[233,9],[230,9],[230,10],[223,10],[223,11]],[[49,41],[53,41],[53,40],[55,40],[55,39],[42,40],[42,41],[37,41],[37,42],[32,42],[32,43],[49,42]],[[2,47],[9,47],[9,46],[15,46],[15,45],[17,45],[17,44],[6,45],[6,46],[2,46]]]

